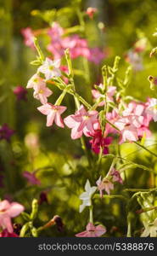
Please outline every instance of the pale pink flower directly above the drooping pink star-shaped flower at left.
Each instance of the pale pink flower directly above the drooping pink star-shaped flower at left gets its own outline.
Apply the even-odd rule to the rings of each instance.
[[[53,94],[53,91],[49,90],[45,84],[38,84],[34,89],[33,96],[42,104],[46,104],[48,102],[48,96]]]

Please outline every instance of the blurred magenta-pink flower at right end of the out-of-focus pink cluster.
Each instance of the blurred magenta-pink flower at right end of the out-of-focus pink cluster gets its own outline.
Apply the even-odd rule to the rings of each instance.
[[[87,57],[88,61],[92,61],[93,63],[98,65],[105,57],[104,52],[98,47],[91,48],[89,50],[90,50],[90,54]]]

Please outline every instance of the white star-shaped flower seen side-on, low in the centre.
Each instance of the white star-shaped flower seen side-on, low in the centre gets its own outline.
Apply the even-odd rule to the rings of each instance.
[[[85,185],[86,192],[83,192],[79,197],[83,201],[80,206],[80,212],[82,212],[85,207],[92,206],[91,198],[92,198],[94,192],[96,191],[96,189],[97,189],[97,187],[95,187],[95,186],[91,187],[91,184],[89,183],[89,181],[87,179],[87,183]]]

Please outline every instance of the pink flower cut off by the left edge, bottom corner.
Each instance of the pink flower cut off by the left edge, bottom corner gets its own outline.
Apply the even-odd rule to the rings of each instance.
[[[17,202],[9,203],[7,200],[0,201],[0,227],[13,233],[11,218],[20,215],[24,211],[24,207]]]

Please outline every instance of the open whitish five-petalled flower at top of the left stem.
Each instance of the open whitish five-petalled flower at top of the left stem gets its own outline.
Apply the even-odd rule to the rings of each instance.
[[[49,80],[53,77],[60,77],[61,72],[59,69],[60,60],[52,61],[49,58],[46,58],[46,61],[43,62],[42,66],[37,69],[38,72],[44,73],[45,79]]]

